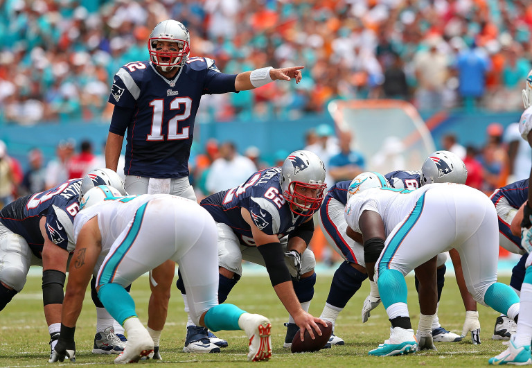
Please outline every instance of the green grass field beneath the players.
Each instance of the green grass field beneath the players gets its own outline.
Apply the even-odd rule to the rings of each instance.
[[[332,276],[318,274],[314,299],[310,313],[319,316],[328,295]],[[24,290],[0,313],[0,367],[42,367],[48,364],[48,328],[42,310],[40,277],[28,277]],[[500,281],[507,283],[508,277]],[[419,307],[414,278],[407,277],[409,286],[409,310],[414,328],[418,324]],[[436,343],[438,351],[416,353],[409,356],[377,358],[368,356],[368,351],[378,346],[389,336],[389,322],[382,305],[376,308],[369,322],[362,324],[360,310],[369,292],[367,283],[351,299],[337,319],[335,333],[346,345],[332,347],[317,353],[292,354],[283,349],[287,313],[278,301],[267,276],[246,276],[229,295],[228,302],[251,313],[266,315],[272,321],[272,342],[274,355],[269,362],[254,364],[275,367],[471,367],[488,365],[488,358],[506,349],[500,341],[491,340],[495,318],[494,310],[479,306],[482,344],[473,345],[470,338],[463,342]],[[141,321],[147,320],[149,286],[148,278],[135,281],[132,297]],[[448,330],[460,333],[465,312],[454,277],[447,276],[438,313],[442,325]],[[243,331],[220,331],[218,336],[228,340],[229,347],[218,354],[182,353],[185,338],[186,315],[179,291],[172,290],[170,310],[166,327],[161,336],[162,362],[142,361],[141,365],[238,367],[251,364],[246,360],[247,338]],[[76,363],[60,365],[106,365],[113,364],[115,356],[96,356],[91,353],[96,327],[96,311],[90,294],[87,293],[84,308],[76,328]],[[59,365],[58,363],[55,363]]]

